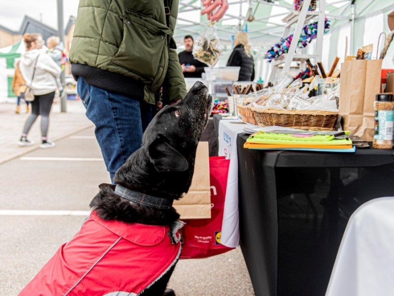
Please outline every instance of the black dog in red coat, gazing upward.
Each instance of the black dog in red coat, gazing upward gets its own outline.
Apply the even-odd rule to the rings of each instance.
[[[175,234],[179,226],[177,222],[179,214],[172,207],[172,202],[174,199],[181,198],[189,190],[198,140],[207,124],[211,107],[212,98],[207,94],[207,88],[200,82],[193,86],[183,100],[174,105],[165,106],[147,127],[143,135],[142,147],[131,154],[117,171],[114,178],[117,185],[99,185],[99,194],[90,204],[93,209],[90,219],[84,223],[69,243],[62,246],[20,295],[31,295],[29,293],[33,291],[38,293],[42,289],[50,290],[50,292],[40,295],[55,295],[53,291],[61,291],[61,295],[70,296],[78,295],[77,293],[98,295],[97,291],[99,291],[102,295],[108,296],[137,294],[138,296],[162,296],[180,254],[179,235]],[[135,228],[133,225],[139,226]],[[162,230],[163,234],[161,234]],[[119,238],[113,244],[111,241],[109,248],[98,250],[96,253],[99,253],[101,257],[99,260],[94,259],[94,264],[83,262],[85,265],[82,264],[81,268],[80,261],[92,257],[90,254],[85,255],[88,252],[87,249],[91,248],[90,246],[96,247],[95,242],[102,240],[102,235],[98,234],[101,233],[100,231],[106,231],[110,235],[115,233],[115,236],[120,232],[124,235],[119,234]],[[164,235],[165,232],[168,232],[168,235]],[[134,278],[132,277],[133,271],[128,270],[128,265],[133,265],[135,261],[129,262],[131,259],[127,254],[125,257],[125,252],[130,249],[129,246],[123,243],[123,249],[116,250],[116,244],[127,240],[131,242],[129,242],[132,245],[130,248],[135,249],[138,245],[143,249],[141,251],[135,249],[137,252],[133,251],[134,254],[130,255],[131,257],[138,256],[135,270],[142,270],[146,273],[146,270],[150,270],[149,266],[141,265],[147,264],[147,261],[149,261],[148,264],[160,265],[160,262],[167,260],[160,261],[164,254],[172,260],[171,265],[164,266],[163,269],[160,269],[161,266],[155,266],[155,272],[157,270],[160,272],[155,273],[152,278],[149,277],[150,281],[139,283],[139,290],[135,289],[137,292],[125,291],[125,289],[122,290],[124,285],[114,287],[113,284],[137,281],[135,274]],[[156,245],[164,246],[158,251],[162,252],[161,255],[156,254]],[[176,245],[178,245],[177,248],[174,247]],[[72,249],[73,246],[77,246],[76,250]],[[67,257],[67,252],[72,256]],[[116,266],[112,266],[112,269],[108,267],[107,262],[105,265],[100,261],[109,257],[111,252],[115,255],[123,252],[123,258],[125,258],[121,262],[116,259]],[[139,254],[144,254],[149,259],[140,259]],[[77,265],[78,271],[82,269],[83,274],[75,277],[74,270],[71,276],[65,276],[64,269],[58,267],[60,264],[66,264],[66,270],[72,269],[73,264]],[[59,280],[56,276],[54,278],[56,274],[61,274],[62,279]],[[148,276],[150,275],[146,275]],[[142,281],[139,274],[137,278]],[[65,283],[64,287],[59,288],[61,285],[59,283],[62,282]],[[57,287],[48,288],[48,285],[57,285]],[[83,285],[86,287],[81,288]],[[89,290],[92,285],[96,285],[95,292]],[[43,286],[45,287],[42,288]],[[75,292],[77,290],[75,287],[79,289],[79,292]]]

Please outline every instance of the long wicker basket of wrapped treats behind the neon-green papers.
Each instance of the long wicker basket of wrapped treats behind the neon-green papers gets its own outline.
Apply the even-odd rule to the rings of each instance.
[[[317,110],[261,110],[252,108],[259,126],[279,125],[308,130],[332,131],[338,112]]]

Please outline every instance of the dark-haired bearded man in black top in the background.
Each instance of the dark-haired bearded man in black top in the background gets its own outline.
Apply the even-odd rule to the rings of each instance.
[[[184,38],[185,50],[178,54],[179,63],[182,65],[183,75],[185,78],[201,78],[206,64],[201,63],[193,56],[193,37],[188,35]]]

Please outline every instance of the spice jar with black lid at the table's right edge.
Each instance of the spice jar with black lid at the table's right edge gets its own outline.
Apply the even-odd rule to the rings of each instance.
[[[393,94],[377,94],[373,106],[375,109],[373,148],[392,149],[394,118]]]

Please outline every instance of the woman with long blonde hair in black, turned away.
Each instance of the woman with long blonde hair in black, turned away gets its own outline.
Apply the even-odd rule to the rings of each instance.
[[[234,45],[227,66],[241,67],[238,81],[253,81],[255,79],[255,62],[250,53],[248,35],[245,32],[238,32],[234,38]]]

